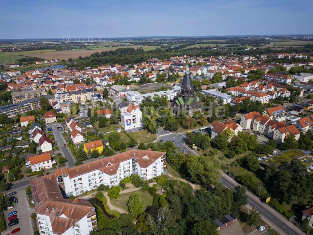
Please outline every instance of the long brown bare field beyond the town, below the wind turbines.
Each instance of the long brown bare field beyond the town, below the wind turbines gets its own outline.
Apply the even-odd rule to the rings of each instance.
[[[137,49],[137,47],[141,47],[141,46],[132,46],[132,47]],[[157,46],[142,46],[142,48],[146,51],[156,49],[156,47]],[[36,56],[39,58],[43,58],[45,60],[51,60],[51,59],[68,60],[69,58],[77,59],[79,56],[83,56],[83,57],[90,56],[91,54],[96,53],[96,52],[115,51],[116,49],[119,49],[119,48],[127,48],[127,46],[94,48],[91,50],[67,50],[67,51],[42,50],[42,51],[38,51],[37,53],[33,53],[33,52],[29,53],[29,51],[24,51],[24,52],[19,52],[19,53],[20,54],[23,53],[22,55],[24,56]]]

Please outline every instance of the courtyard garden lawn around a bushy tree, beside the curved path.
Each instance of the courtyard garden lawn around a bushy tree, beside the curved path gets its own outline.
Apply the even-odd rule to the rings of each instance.
[[[152,205],[153,197],[150,195],[150,193],[148,193],[147,191],[142,191],[142,190],[138,190],[136,192],[139,192],[141,195],[141,201],[143,203],[144,210],[146,209],[147,206]],[[128,211],[127,202],[129,200],[129,197],[133,193],[134,192],[120,194],[120,196],[117,199],[117,203],[115,199],[110,199],[110,201],[113,206],[117,206],[117,207],[124,209],[125,211]]]

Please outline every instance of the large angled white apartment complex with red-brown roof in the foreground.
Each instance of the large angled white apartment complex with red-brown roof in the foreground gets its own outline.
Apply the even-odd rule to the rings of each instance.
[[[97,230],[94,206],[84,199],[64,199],[95,189],[100,184],[118,185],[131,174],[148,180],[166,170],[166,152],[132,149],[107,158],[30,181],[40,234],[88,235]],[[63,191],[63,194],[61,190]]]

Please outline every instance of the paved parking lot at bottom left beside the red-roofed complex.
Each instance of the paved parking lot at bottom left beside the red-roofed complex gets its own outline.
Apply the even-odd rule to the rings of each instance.
[[[17,198],[17,205],[14,205],[13,208],[8,209],[4,211],[4,219],[7,225],[7,231],[2,232],[1,234],[11,234],[11,231],[15,228],[20,228],[21,231],[17,232],[17,235],[31,235],[33,234],[33,222],[30,217],[32,213],[35,212],[35,209],[33,207],[30,207],[28,204],[27,196],[25,193],[25,188],[26,186],[20,188],[20,191],[14,190],[17,193],[13,196]],[[8,191],[7,195],[11,193],[12,191]],[[8,214],[11,213],[12,211],[17,211],[17,218],[18,218],[18,224],[13,225],[12,227],[8,226]]]

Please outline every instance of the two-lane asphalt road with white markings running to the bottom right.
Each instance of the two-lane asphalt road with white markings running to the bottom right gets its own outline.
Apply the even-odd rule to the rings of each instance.
[[[228,189],[234,189],[238,184],[230,178],[228,175],[223,175],[222,177],[222,183],[228,188]],[[282,216],[279,212],[275,211],[270,206],[266,205],[264,202],[262,203],[255,195],[253,195],[250,192],[247,192],[248,196],[248,205],[253,207],[256,206],[258,211],[262,215],[262,219],[267,220],[269,224],[274,227],[276,227],[276,230],[279,229],[281,234],[286,235],[300,235],[304,234],[300,232],[300,230],[293,225],[291,222],[289,222],[284,216]]]

